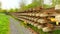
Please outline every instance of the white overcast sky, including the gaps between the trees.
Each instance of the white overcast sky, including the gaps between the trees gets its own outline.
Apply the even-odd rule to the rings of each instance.
[[[31,3],[32,0],[26,0],[25,2],[27,4]],[[0,0],[0,2],[2,2],[2,8],[3,9],[10,9],[10,8],[19,8],[19,3],[21,2],[21,0]],[[49,4],[50,1],[45,0],[45,4]]]

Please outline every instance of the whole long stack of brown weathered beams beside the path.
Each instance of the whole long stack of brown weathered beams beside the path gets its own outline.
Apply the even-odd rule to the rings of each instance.
[[[34,27],[37,27],[38,29],[42,29],[44,32],[50,32],[56,28],[59,28],[58,26],[60,26],[60,16],[53,8],[35,10],[26,12],[13,12],[10,14],[20,20],[25,21],[26,24],[28,23]]]

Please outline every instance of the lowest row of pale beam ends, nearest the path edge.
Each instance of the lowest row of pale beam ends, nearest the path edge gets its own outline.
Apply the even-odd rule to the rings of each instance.
[[[26,21],[27,23],[33,25],[34,27],[37,27],[38,29],[42,29],[44,32],[52,31],[52,28],[49,27],[49,26],[40,25],[39,23],[35,23],[35,22],[30,21],[30,20],[28,20],[28,19],[26,19],[26,18],[23,18],[23,19],[22,19],[22,17],[20,17],[20,18],[18,18],[18,19],[24,20],[24,21]],[[51,24],[50,24],[50,26],[51,26]],[[46,31],[45,31],[45,30],[46,30]]]

